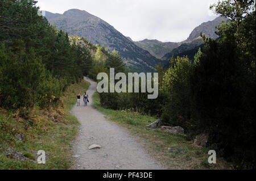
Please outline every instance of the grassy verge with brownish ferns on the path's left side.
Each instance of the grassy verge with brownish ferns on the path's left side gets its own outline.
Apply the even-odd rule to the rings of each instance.
[[[61,98],[61,107],[32,108],[28,119],[0,109],[0,169],[69,169],[71,141],[79,127],[69,110],[76,103],[77,92],[86,91],[89,86],[86,81],[69,86]],[[46,151],[46,164],[36,162],[38,150]]]

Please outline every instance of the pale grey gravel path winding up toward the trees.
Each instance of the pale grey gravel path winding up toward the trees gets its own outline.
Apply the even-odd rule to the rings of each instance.
[[[133,136],[91,107],[96,82],[85,80],[91,83],[87,91],[90,103],[87,107],[80,103],[71,110],[81,123],[72,149],[76,162],[72,169],[163,169]],[[93,144],[101,145],[101,149],[89,150]]]

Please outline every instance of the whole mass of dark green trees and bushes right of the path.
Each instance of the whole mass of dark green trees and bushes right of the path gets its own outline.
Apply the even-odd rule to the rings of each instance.
[[[216,40],[202,35],[205,45],[193,60],[173,56],[168,70],[156,66],[157,99],[102,93],[101,104],[162,117],[190,138],[207,133],[208,146],[236,169],[255,169],[255,2],[225,0],[212,7],[229,23],[218,27]]]

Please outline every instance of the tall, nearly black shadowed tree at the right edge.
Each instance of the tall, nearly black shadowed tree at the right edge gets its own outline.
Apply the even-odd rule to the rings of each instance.
[[[255,2],[214,6],[230,23],[219,28],[220,39],[205,40],[193,71],[195,117],[224,157],[255,168]]]

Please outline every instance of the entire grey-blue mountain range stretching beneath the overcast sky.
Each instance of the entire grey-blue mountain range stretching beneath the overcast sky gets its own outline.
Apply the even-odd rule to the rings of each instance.
[[[187,40],[181,42],[162,42],[158,40],[133,41],[122,35],[104,20],[89,14],[89,12],[71,9],[63,14],[53,14],[46,11],[46,18],[51,24],[69,35],[84,37],[92,44],[104,45],[106,50],[117,50],[127,66],[134,71],[154,71],[158,64],[167,65],[174,56],[189,56],[191,59],[204,44],[201,33],[216,39],[215,31],[220,23],[227,19],[217,17],[197,26]]]

